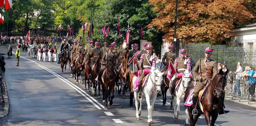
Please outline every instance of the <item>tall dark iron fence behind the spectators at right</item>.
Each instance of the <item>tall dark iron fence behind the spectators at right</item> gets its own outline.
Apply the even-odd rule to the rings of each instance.
[[[182,44],[183,49],[187,50],[187,55],[194,61],[204,58],[204,49],[212,47],[214,49],[212,59],[217,63],[225,64],[229,71],[235,71],[238,62],[242,62],[242,67],[251,65],[256,67],[256,39],[237,40],[234,44],[209,45],[209,44]]]

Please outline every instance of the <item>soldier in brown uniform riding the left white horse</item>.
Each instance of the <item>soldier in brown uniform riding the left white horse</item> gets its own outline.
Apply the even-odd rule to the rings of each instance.
[[[152,48],[153,48],[152,46],[148,45],[146,47],[147,53],[146,54],[141,54],[141,56],[140,56],[140,63],[143,65],[142,69],[151,69],[150,71],[154,71],[155,70],[156,57],[151,54]],[[142,80],[143,80],[143,78],[145,76],[146,76],[145,74],[141,74],[140,75],[139,88],[138,88],[138,91],[139,91],[138,96],[139,96],[139,98],[141,98],[141,96],[142,96],[142,93],[141,93]]]

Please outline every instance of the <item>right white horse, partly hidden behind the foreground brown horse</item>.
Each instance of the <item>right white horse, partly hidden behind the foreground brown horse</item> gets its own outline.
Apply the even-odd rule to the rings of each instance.
[[[187,86],[190,83],[190,72],[186,70],[183,75],[182,79],[180,80],[180,86],[178,87],[177,91],[175,91],[174,100],[172,100],[173,108],[174,108],[174,121],[177,121],[180,114],[180,103],[184,100],[185,91]],[[186,111],[187,112],[187,111]],[[186,123],[188,120],[186,119]]]

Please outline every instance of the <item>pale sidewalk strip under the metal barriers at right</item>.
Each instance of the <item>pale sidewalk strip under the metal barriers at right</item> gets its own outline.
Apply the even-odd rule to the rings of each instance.
[[[231,95],[225,95],[225,100],[256,108],[256,102],[254,102],[254,101],[250,101],[250,104],[248,104],[249,100],[247,100],[247,99],[241,99],[239,102],[239,99],[240,99],[239,97],[234,96],[233,99],[232,99],[232,97],[233,96],[231,96]]]

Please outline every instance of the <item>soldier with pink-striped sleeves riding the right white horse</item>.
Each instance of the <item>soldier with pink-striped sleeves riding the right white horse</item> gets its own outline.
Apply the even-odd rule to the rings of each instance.
[[[174,65],[176,66],[176,69],[178,70],[177,74],[184,73],[185,70],[188,70],[190,72],[190,59],[186,58],[186,52],[187,52],[186,50],[181,49],[180,57],[176,58],[174,61]],[[174,78],[174,80],[172,81],[172,86],[170,87],[171,88],[171,98],[170,98],[171,100],[174,100],[174,90],[175,90],[176,82],[180,79],[180,78],[177,78],[177,76],[174,76],[173,78]]]

